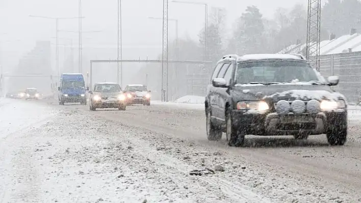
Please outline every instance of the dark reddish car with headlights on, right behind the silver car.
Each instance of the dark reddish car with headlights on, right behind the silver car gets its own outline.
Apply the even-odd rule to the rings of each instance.
[[[125,87],[127,105],[143,104],[150,105],[150,91],[143,84],[128,84]]]

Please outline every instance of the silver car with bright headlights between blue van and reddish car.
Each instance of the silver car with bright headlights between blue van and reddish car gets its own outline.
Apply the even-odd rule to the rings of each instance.
[[[125,110],[125,95],[120,85],[115,82],[98,82],[94,84],[93,91],[89,91],[89,109],[118,108]]]

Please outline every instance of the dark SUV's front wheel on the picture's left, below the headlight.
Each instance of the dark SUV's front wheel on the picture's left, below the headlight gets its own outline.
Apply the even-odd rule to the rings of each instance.
[[[226,137],[228,146],[231,147],[240,147],[244,142],[245,133],[237,132],[233,127],[233,119],[231,116],[231,110],[227,110],[226,112]]]

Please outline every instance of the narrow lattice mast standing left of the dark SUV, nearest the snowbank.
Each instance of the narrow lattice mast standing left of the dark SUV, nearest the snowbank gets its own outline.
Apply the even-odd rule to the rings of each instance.
[[[162,101],[168,101],[168,0],[163,0]]]

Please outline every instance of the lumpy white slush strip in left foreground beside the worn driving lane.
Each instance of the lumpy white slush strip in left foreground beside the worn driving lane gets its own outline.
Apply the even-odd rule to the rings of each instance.
[[[139,139],[149,134],[78,110],[62,111],[41,128],[2,142],[16,140],[14,157],[5,164],[11,180],[1,200],[270,202],[241,184],[222,181],[219,171],[190,176],[196,166]]]

